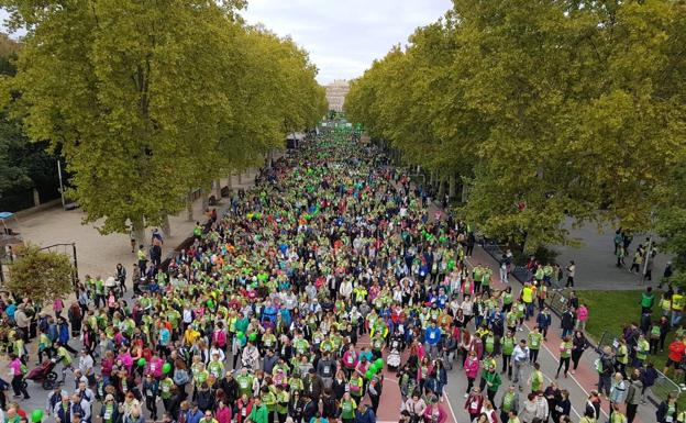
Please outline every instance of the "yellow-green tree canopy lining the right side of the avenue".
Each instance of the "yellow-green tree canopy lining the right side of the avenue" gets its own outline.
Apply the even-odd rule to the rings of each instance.
[[[458,177],[486,235],[532,252],[571,243],[567,220],[646,231],[686,164],[685,22],[668,0],[454,0],[352,82],[345,111]]]

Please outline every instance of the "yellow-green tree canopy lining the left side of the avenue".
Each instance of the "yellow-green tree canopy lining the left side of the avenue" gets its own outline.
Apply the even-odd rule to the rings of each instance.
[[[59,148],[101,232],[157,225],[325,113],[317,69],[242,1],[0,0],[24,27],[5,103]]]

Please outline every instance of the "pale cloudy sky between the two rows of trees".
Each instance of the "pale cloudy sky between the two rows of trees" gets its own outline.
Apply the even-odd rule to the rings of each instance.
[[[309,52],[322,85],[353,79],[418,26],[441,18],[451,0],[247,0],[241,14]]]

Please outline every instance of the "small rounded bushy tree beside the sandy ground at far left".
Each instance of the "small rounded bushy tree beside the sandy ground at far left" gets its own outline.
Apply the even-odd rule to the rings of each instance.
[[[5,287],[20,297],[46,302],[74,291],[74,266],[65,254],[27,245],[9,270],[10,278]]]

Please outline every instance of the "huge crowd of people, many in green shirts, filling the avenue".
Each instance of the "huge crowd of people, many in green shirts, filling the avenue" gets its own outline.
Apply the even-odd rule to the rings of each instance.
[[[263,169],[225,214],[209,213],[168,264],[153,236],[133,292],[120,266],[117,283],[87,277],[55,315],[5,298],[14,394],[29,397],[35,337],[37,361],[62,375],[44,411],[57,423],[374,423],[387,389],[400,390],[400,421],[444,423],[449,372],[467,380],[473,422],[572,422],[569,393],[545,383],[539,363],[557,331],[545,298],[562,271],[533,264],[513,291],[504,257],[506,286],[495,289],[494,269],[467,265],[469,225],[430,207],[380,149],[320,134]],[[573,286],[574,263],[566,270]],[[573,296],[557,377],[588,348],[587,319]],[[583,423],[599,421],[604,392],[611,423],[633,420],[648,371],[628,376],[617,357],[602,356]],[[2,401],[5,421],[19,422],[20,407]]]

